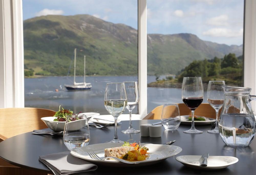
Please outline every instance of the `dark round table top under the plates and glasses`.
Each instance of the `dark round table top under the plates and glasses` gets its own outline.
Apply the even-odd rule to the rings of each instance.
[[[139,129],[141,124],[154,123],[157,120],[140,120],[133,121],[133,128]],[[170,157],[161,163],[147,167],[136,167],[133,169],[109,168],[98,166],[96,171],[87,172],[84,174],[255,174],[256,173],[256,140],[253,140],[248,147],[229,147],[225,146],[219,134],[207,133],[211,129],[211,125],[196,126],[197,129],[202,130],[202,134],[185,134],[183,130],[190,128],[188,125],[180,125],[176,131],[165,131],[163,128],[162,137],[151,138],[141,137],[138,134],[123,134],[121,130],[127,129],[129,121],[122,121],[118,125],[118,136],[120,140],[126,141],[133,139],[133,141],[141,141],[141,143],[149,142],[153,144],[161,144],[170,140],[176,140],[173,145],[182,148],[176,156],[181,155],[203,155],[209,153],[214,156],[234,156],[239,161],[228,168],[215,171],[202,171],[187,168],[180,162],[175,160],[176,156]],[[50,129],[46,129],[50,130]],[[110,141],[114,136],[114,126],[109,126],[104,129],[96,129],[90,127],[90,145],[97,143],[105,143]],[[50,135],[33,135],[31,133],[20,134],[12,138],[6,139],[0,143],[0,157],[8,162],[19,166],[28,167],[32,169],[43,170],[47,173],[52,172],[41,162],[38,161],[39,156],[47,155],[62,151],[68,151],[65,147],[62,137],[52,138]]]

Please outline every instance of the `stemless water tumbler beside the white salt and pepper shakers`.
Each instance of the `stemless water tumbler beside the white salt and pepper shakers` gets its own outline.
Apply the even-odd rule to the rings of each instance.
[[[161,122],[166,130],[176,130],[179,127],[180,114],[177,104],[164,104]]]

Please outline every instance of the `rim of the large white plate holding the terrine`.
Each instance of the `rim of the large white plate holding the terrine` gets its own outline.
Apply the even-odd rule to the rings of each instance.
[[[106,144],[106,143],[99,143],[99,144]],[[99,145],[99,144],[93,144],[93,145]],[[143,144],[143,145],[147,146],[147,145],[162,145],[162,144]],[[89,145],[89,146],[91,146],[91,145]],[[175,155],[179,154],[182,151],[182,148],[179,147],[179,146],[175,146],[175,145],[162,145],[162,146],[176,147],[176,148],[178,148],[178,151],[173,152],[173,154],[167,155],[166,157],[161,157],[161,158],[152,159],[152,160],[140,161],[139,164],[150,163],[150,162],[158,162],[158,161],[161,161],[161,160],[165,160],[165,159],[167,159],[169,157],[172,157],[172,156],[175,156]],[[77,148],[75,148],[75,149],[77,149]],[[77,152],[74,152],[73,150],[70,151],[70,154],[75,156],[75,157],[80,156],[78,158],[86,160],[86,161],[91,161],[92,160],[93,162],[98,162],[98,163],[113,163],[113,164],[117,164],[118,163],[118,164],[123,164],[122,162],[119,162],[119,161],[105,161],[105,160],[97,160],[97,159],[92,159],[92,158],[89,158],[89,160],[88,159],[84,159],[84,158],[82,158],[82,157],[84,157],[84,155],[78,154]],[[131,165],[137,165],[137,164],[131,164]]]

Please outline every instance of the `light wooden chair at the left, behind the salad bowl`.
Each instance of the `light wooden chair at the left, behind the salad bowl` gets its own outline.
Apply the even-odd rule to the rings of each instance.
[[[47,128],[41,117],[54,116],[55,111],[41,108],[1,108],[0,141],[31,132],[34,129]],[[3,151],[3,150],[1,150]],[[0,174],[46,174],[40,171],[16,167],[0,159]]]

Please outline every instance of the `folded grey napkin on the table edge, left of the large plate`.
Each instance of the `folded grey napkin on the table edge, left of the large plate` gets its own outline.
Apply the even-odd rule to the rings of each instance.
[[[97,165],[72,156],[70,151],[39,156],[39,161],[44,163],[55,175],[68,175],[97,169]]]

